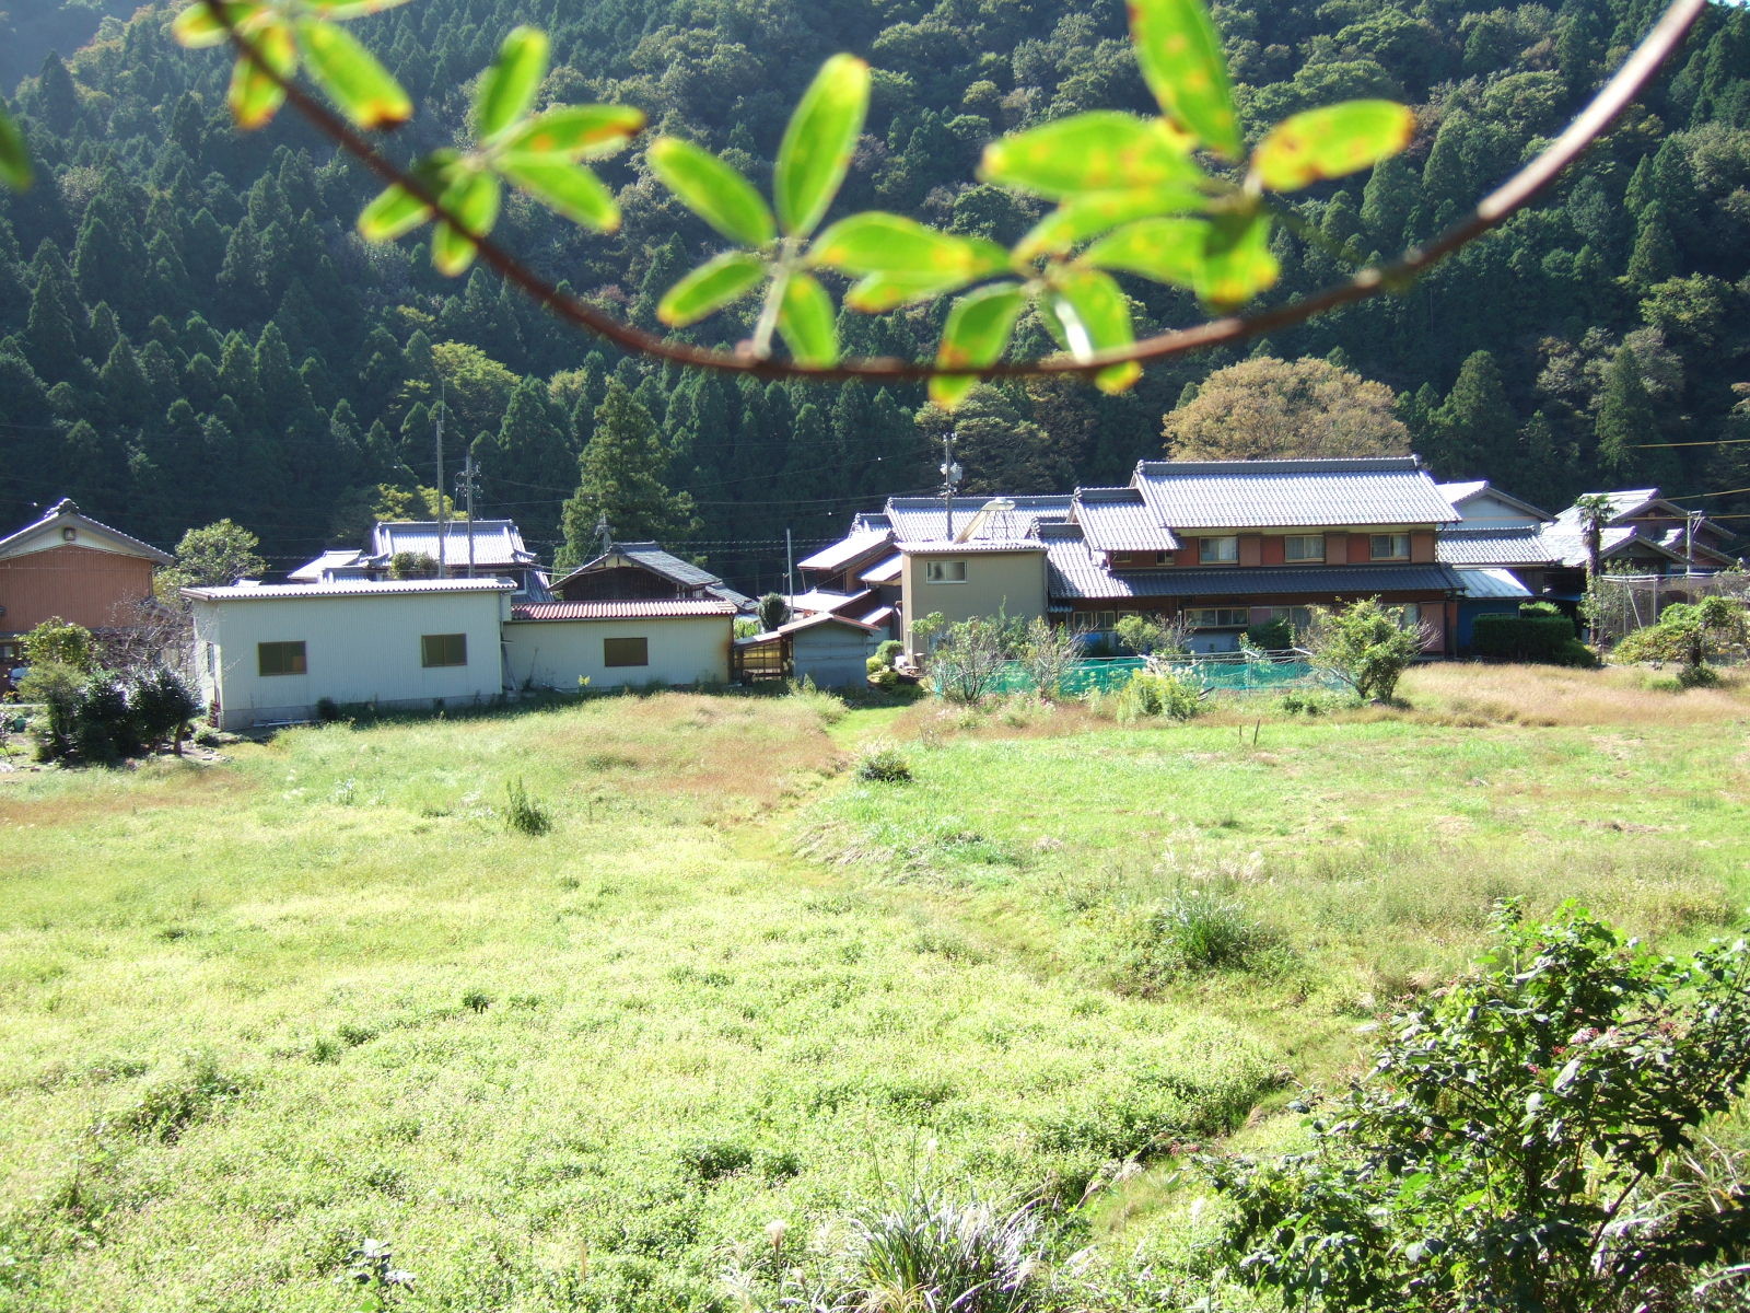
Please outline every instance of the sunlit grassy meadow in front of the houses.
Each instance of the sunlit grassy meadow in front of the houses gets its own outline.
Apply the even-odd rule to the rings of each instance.
[[[366,1238],[394,1308],[728,1308],[770,1222],[824,1253],[919,1183],[1041,1194],[1139,1290],[1172,1152],[1292,1134],[1494,898],[1673,945],[1750,902],[1743,688],[1404,693],[667,693],[0,776],[0,1309],[357,1309]]]

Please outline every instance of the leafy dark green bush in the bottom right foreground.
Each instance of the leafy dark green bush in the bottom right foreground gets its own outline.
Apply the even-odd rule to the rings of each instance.
[[[1743,1194],[1673,1206],[1659,1175],[1750,1082],[1750,947],[1678,961],[1512,903],[1493,940],[1390,1022],[1307,1152],[1202,1164],[1241,1281],[1295,1308],[1605,1313],[1676,1308],[1661,1283],[1743,1253]]]

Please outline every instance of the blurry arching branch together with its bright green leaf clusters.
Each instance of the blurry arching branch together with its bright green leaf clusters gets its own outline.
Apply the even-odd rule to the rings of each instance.
[[[588,163],[626,147],[644,126],[639,110],[618,105],[532,114],[548,67],[541,32],[513,32],[480,79],[471,147],[399,166],[364,137],[406,121],[411,103],[341,25],[402,2],[196,0],[175,30],[189,46],[234,47],[229,100],[242,126],[259,126],[290,105],[388,184],[360,215],[369,240],[436,222],[432,259],[441,271],[455,275],[480,259],[558,317],[628,352],[761,376],[928,378],[943,406],[957,404],[984,376],[1076,373],[1120,392],[1146,361],[1269,333],[1402,287],[1530,205],[1634,100],[1706,7],[1706,0],[1673,0],[1575,123],[1444,235],[1314,296],[1246,315],[1236,312],[1279,278],[1270,238],[1284,210],[1272,194],[1396,154],[1414,135],[1405,107],[1356,100],[1307,110],[1270,128],[1248,152],[1220,39],[1200,0],[1134,0],[1132,46],[1160,114],[1078,114],[990,144],[984,182],[1054,205],[1004,249],[886,212],[822,228],[870,95],[868,65],[835,56],[784,133],[770,201],[696,144],[662,137],[649,145],[656,179],[732,243],[667,291],[662,322],[686,327],[760,296],[752,334],[733,350],[716,350],[623,324],[492,240],[506,187],[583,228],[614,231],[618,207]],[[334,109],[299,84],[299,68]],[[21,147],[18,165],[24,166]],[[934,359],[842,359],[826,275],[849,280],[844,303],[864,313],[957,296]],[[1139,341],[1118,277],[1186,289],[1216,317]],[[1004,359],[1029,306],[1059,354]]]

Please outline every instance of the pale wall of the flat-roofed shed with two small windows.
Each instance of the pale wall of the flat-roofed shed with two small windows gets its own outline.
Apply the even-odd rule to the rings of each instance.
[[[194,600],[194,665],[219,725],[308,720],[320,699],[425,709],[504,690],[504,593]],[[467,665],[425,669],[425,634],[466,634]],[[304,674],[262,676],[257,644],[303,642]]]

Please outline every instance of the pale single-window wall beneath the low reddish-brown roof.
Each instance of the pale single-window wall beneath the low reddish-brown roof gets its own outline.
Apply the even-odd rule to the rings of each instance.
[[[642,685],[724,685],[730,681],[732,616],[676,620],[513,620],[504,625],[504,665],[511,686],[578,690]],[[604,664],[606,639],[646,639],[649,665]]]

